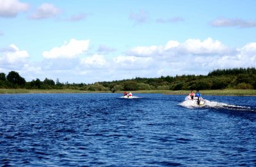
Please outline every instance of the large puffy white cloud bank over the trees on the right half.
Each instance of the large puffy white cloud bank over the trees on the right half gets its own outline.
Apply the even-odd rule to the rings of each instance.
[[[137,67],[143,65],[152,75],[156,71],[163,75],[208,74],[216,68],[254,67],[256,43],[233,49],[212,38],[185,42],[170,40],[165,45],[134,47],[127,51],[127,55],[116,58],[115,62],[130,62]]]

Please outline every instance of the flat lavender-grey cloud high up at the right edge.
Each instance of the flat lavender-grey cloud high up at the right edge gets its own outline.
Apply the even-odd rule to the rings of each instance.
[[[220,19],[212,20],[211,26],[213,26],[213,27],[255,28],[256,20],[220,18]]]

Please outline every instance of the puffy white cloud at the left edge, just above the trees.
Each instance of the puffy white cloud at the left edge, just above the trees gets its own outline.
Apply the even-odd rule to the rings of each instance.
[[[20,49],[12,44],[10,47],[1,49],[3,55],[0,54],[0,65],[2,67],[20,68],[28,61],[28,51],[20,51]]]

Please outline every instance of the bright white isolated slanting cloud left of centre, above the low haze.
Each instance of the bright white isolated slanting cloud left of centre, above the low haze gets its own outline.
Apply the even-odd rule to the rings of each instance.
[[[46,59],[75,58],[88,50],[89,42],[90,40],[71,39],[68,44],[65,42],[61,47],[54,47],[51,51],[43,52],[43,56]]]

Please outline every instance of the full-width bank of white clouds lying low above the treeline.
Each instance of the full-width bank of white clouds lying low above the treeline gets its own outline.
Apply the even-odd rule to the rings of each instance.
[[[255,67],[256,43],[232,49],[218,40],[170,40],[163,45],[138,46],[108,58],[88,50],[89,40],[70,40],[44,52],[41,62],[29,61],[28,51],[15,45],[0,49],[0,67],[20,71],[25,79],[59,78],[61,82],[94,83],[132,77],[208,74],[218,68]],[[91,51],[90,51],[91,52]],[[128,54],[129,53],[129,54]],[[10,71],[9,70],[9,71]],[[23,76],[24,75],[24,76]]]

